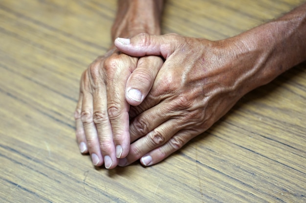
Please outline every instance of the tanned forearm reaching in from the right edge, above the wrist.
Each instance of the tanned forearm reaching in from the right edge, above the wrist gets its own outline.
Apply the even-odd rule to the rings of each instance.
[[[248,92],[306,60],[306,4],[233,38],[241,51],[237,61],[246,66],[240,64]]]

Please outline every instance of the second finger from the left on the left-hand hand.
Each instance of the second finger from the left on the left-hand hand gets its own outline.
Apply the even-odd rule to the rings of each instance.
[[[91,156],[92,164],[95,166],[101,166],[103,164],[103,158],[100,150],[97,129],[93,122],[92,115],[93,115],[92,95],[89,92],[84,92],[82,100],[81,120],[86,135],[87,148]]]

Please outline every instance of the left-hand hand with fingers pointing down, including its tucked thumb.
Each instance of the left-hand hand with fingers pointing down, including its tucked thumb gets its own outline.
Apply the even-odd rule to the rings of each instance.
[[[89,152],[95,166],[104,163],[106,168],[114,168],[118,159],[129,153],[130,105],[125,99],[126,84],[133,85],[135,80],[129,79],[133,74],[152,77],[151,83],[145,81],[138,89],[127,90],[131,104],[141,103],[162,63],[158,56],[139,59],[112,49],[82,74],[75,111],[76,138],[81,152]]]

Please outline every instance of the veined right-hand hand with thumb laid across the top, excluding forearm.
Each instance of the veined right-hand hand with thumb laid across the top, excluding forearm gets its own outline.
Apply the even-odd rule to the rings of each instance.
[[[210,128],[249,91],[246,87],[254,60],[240,59],[240,53],[247,52],[233,39],[141,34],[116,39],[115,45],[128,55],[161,55],[165,59],[151,92],[143,103],[131,107],[132,144],[119,166],[140,158],[144,166],[162,161]]]

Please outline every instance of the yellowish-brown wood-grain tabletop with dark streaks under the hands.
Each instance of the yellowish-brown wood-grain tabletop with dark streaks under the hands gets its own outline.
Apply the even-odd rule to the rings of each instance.
[[[305,0],[167,0],[163,33],[221,39]],[[0,202],[306,203],[306,64],[245,95],[164,162],[95,168],[79,78],[110,45],[115,0],[0,1]]]

